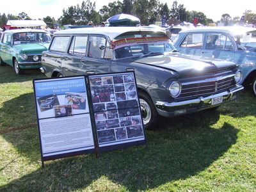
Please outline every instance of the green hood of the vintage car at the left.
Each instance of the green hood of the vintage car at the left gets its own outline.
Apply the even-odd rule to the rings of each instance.
[[[20,51],[22,52],[42,52],[42,51],[46,51],[49,48],[49,43],[48,44],[19,44],[19,45],[14,45],[13,47],[15,49],[20,49]]]

